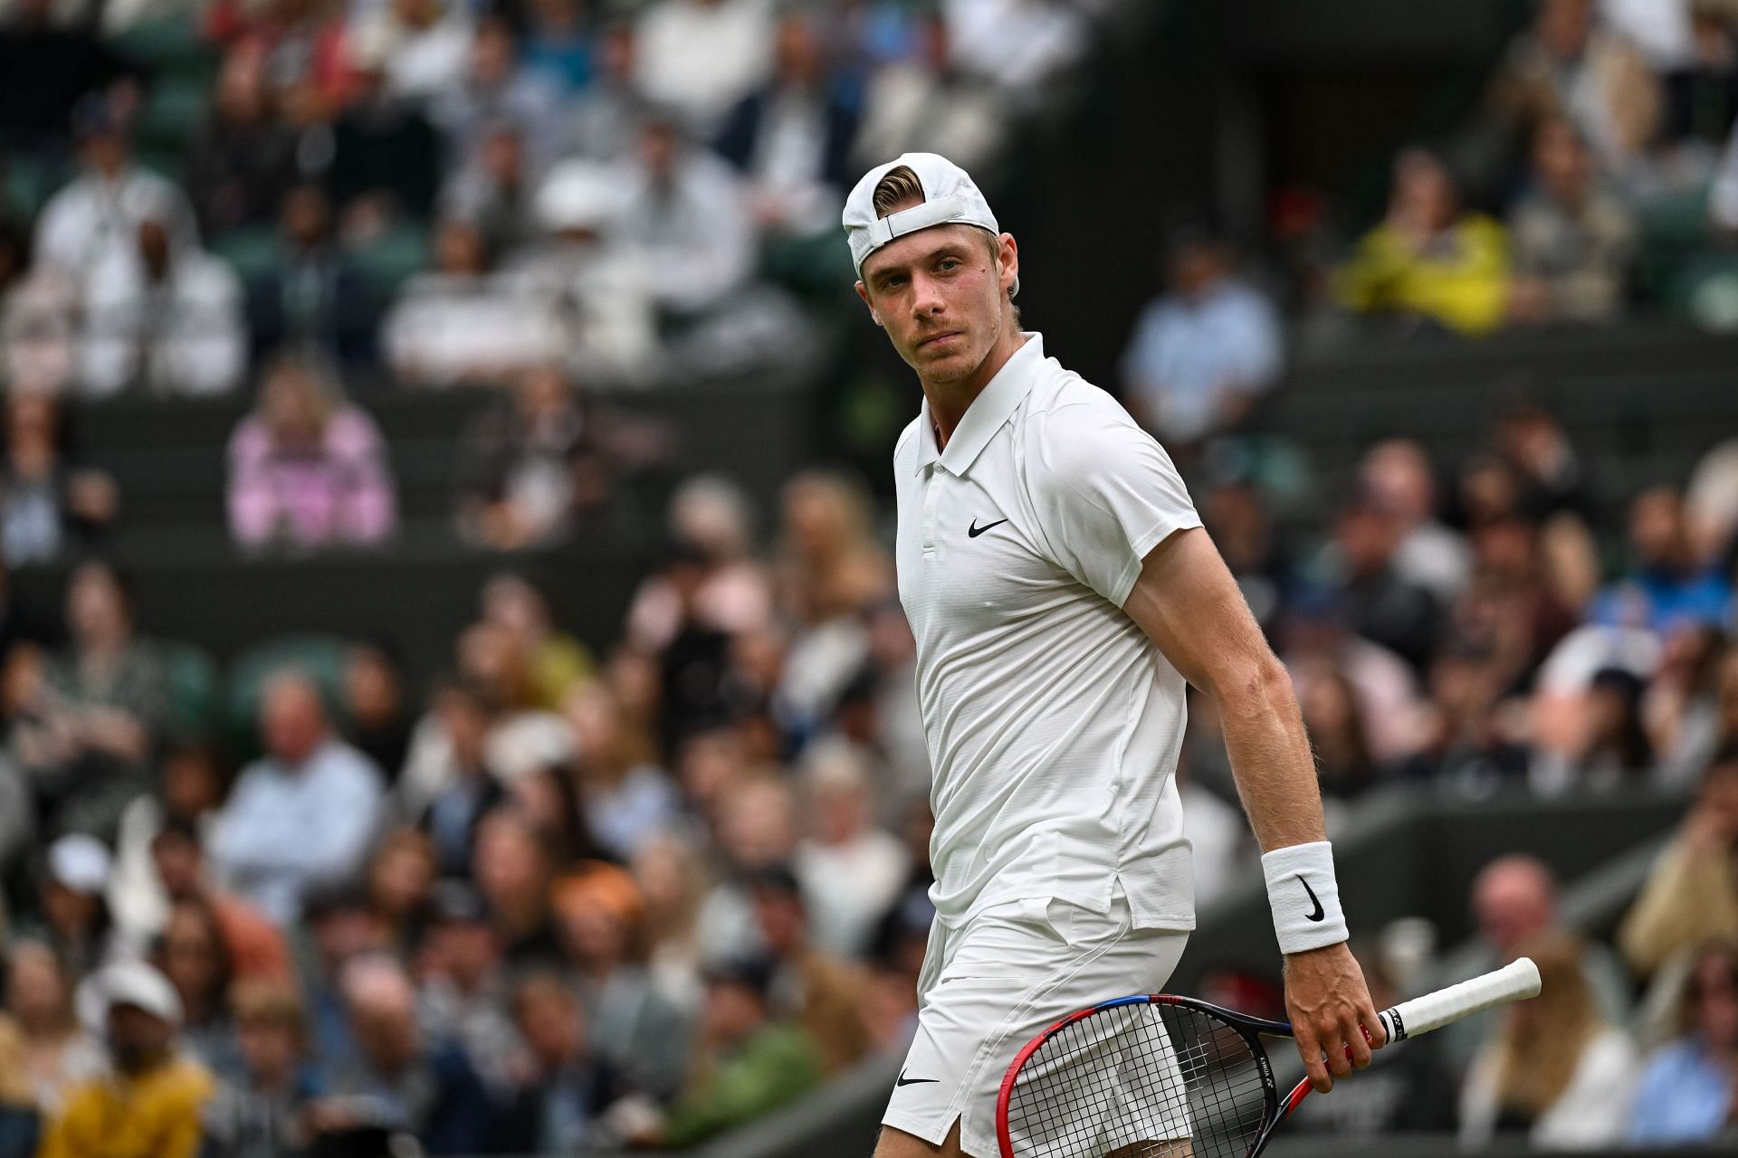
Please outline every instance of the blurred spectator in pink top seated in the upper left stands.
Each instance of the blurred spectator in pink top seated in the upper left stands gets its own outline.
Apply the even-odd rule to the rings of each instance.
[[[398,524],[386,446],[318,366],[276,361],[229,439],[229,530],[243,547],[372,545]]]

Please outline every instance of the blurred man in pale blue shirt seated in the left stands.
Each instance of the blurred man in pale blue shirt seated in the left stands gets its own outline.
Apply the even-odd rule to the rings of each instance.
[[[381,773],[332,734],[320,689],[273,679],[261,701],[266,755],[242,771],[212,833],[222,878],[278,924],[302,896],[362,868],[381,816]]]

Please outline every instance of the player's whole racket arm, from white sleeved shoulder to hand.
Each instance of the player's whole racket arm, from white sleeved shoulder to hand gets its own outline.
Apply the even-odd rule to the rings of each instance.
[[[1331,1075],[1350,1071],[1347,1050],[1352,1064],[1370,1064],[1363,1028],[1376,1043],[1382,1028],[1345,946],[1291,679],[1151,434],[1090,387],[1029,431],[1029,493],[1057,563],[1123,608],[1184,679],[1218,701],[1237,792],[1262,842],[1298,1052],[1326,1092]]]

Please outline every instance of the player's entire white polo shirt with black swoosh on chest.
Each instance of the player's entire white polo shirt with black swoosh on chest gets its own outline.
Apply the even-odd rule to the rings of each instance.
[[[1029,333],[944,451],[925,403],[893,470],[940,920],[1051,896],[1107,911],[1121,885],[1137,925],[1194,929],[1185,684],[1121,611],[1147,552],[1201,524],[1177,467]]]

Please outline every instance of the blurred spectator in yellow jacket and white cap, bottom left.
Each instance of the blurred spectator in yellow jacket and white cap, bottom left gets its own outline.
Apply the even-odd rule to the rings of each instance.
[[[195,1158],[212,1076],[176,1049],[181,1002],[143,962],[99,976],[113,1073],[71,1092],[38,1158]]]

